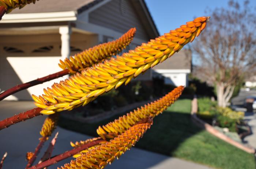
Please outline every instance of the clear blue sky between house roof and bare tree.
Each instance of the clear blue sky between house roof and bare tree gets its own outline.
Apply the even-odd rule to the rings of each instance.
[[[157,25],[160,35],[174,30],[191,21],[194,17],[205,16],[206,10],[216,7],[227,8],[229,0],[145,0]],[[244,0],[237,0],[243,4]],[[256,6],[256,0],[250,1]]]

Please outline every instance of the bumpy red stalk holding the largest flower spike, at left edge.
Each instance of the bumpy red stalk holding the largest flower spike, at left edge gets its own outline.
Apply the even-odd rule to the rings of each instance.
[[[4,119],[4,120],[0,121],[0,130],[7,128],[11,125],[14,125],[15,123],[25,121],[27,119],[36,117],[38,115],[42,115],[40,113],[41,110],[43,110],[43,109],[37,107],[37,108],[31,109],[31,110],[28,110],[26,112],[9,117],[7,119]]]

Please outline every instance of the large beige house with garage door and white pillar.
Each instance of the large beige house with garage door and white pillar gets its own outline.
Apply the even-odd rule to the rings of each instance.
[[[16,84],[55,73],[59,59],[137,32],[133,49],[159,36],[143,0],[40,0],[15,9],[0,21],[0,92]],[[30,100],[67,76],[33,86],[8,97]],[[140,79],[150,79],[148,71]]]

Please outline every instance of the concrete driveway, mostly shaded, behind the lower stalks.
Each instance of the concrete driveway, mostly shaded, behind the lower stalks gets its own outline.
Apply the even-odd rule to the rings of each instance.
[[[34,105],[29,101],[0,102],[0,119],[4,119],[19,113],[24,110],[33,108]],[[38,144],[38,138],[40,137],[39,131],[46,116],[39,116],[33,119],[29,119],[27,122],[20,122],[16,125],[10,126],[7,129],[0,131],[0,158],[4,152],[8,152],[8,156],[4,161],[3,169],[19,169],[25,168],[27,162],[25,161],[25,154],[28,151],[34,151]],[[53,150],[53,156],[60,154],[65,150],[70,150],[70,141],[79,141],[89,138],[87,135],[75,133],[57,127],[55,130],[59,131],[59,137],[57,138],[57,144]],[[46,146],[41,150],[38,155],[42,157],[49,142],[46,142]],[[48,167],[48,169],[57,168],[67,162],[70,162],[72,158],[61,161],[58,164]],[[39,159],[37,159],[38,162]],[[206,166],[195,164],[193,162],[181,160],[178,158],[163,156],[161,154],[147,152],[145,150],[132,148],[127,151],[119,160],[115,160],[112,165],[107,166],[106,169],[210,169]]]

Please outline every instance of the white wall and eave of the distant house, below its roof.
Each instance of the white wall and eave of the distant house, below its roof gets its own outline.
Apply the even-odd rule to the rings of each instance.
[[[157,69],[154,70],[153,76],[164,76],[165,84],[188,86],[188,74],[190,72],[189,69]]]

